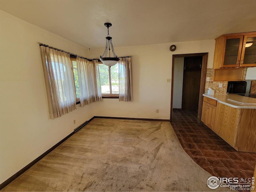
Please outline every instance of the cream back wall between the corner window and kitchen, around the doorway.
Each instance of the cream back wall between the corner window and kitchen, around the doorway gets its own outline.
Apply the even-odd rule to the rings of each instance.
[[[174,52],[169,49],[172,44],[177,46]],[[95,115],[170,119],[171,84],[166,79],[172,76],[172,54],[209,52],[207,67],[212,68],[214,46],[214,40],[203,40],[114,47],[118,56],[132,55],[134,101],[103,99],[94,105]],[[99,58],[103,52],[103,49],[90,50],[90,58]]]

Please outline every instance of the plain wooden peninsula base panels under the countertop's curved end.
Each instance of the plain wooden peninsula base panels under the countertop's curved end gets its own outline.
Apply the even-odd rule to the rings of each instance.
[[[256,109],[233,108],[218,102],[213,130],[236,150],[256,152]]]

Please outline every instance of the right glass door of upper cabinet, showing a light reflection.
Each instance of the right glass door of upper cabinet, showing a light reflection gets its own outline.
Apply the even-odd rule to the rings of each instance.
[[[240,66],[256,66],[256,35],[245,35]]]

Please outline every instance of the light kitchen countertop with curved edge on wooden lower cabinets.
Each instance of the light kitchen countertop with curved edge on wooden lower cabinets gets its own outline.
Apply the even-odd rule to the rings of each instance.
[[[225,104],[234,108],[256,109],[256,98],[240,96],[238,94],[214,94],[214,95],[203,94],[203,96],[217,100],[222,104]],[[252,103],[252,104],[240,104],[237,102],[230,101],[228,99],[235,100],[237,102]]]

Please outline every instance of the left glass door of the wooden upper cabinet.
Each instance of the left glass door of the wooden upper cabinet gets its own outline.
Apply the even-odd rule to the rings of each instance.
[[[238,67],[240,65],[243,36],[226,38],[225,52],[222,54],[222,67]]]

